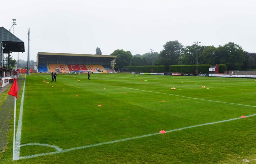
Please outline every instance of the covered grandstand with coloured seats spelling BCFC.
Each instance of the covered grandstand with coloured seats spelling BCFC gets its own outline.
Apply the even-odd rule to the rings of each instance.
[[[38,72],[115,72],[116,56],[88,55],[88,54],[64,54],[64,53],[37,53]]]

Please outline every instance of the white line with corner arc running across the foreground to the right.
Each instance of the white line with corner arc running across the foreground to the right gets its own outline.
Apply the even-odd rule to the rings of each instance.
[[[252,116],[255,116],[255,115],[256,114],[248,115],[246,117],[252,117]],[[169,131],[166,131],[166,133],[170,133],[170,132],[173,132],[173,131],[180,131],[180,130],[183,130],[183,129],[194,128],[194,127],[198,127],[198,126],[218,124],[218,123],[228,122],[228,121],[232,121],[232,120],[239,120],[239,119],[241,119],[241,117],[233,118],[233,119],[229,119],[229,120],[217,121],[217,122],[210,122],[210,123],[206,123],[206,124],[187,126],[187,127],[184,127],[184,128],[169,130]],[[74,147],[74,148],[63,149],[63,150],[61,148],[57,147],[57,146],[54,146],[54,145],[40,144],[42,146],[47,145],[48,147],[49,146],[50,147],[57,147],[57,148],[59,148],[59,150],[56,149],[57,151],[54,151],[54,152],[42,153],[42,154],[34,154],[34,155],[29,155],[29,156],[22,156],[22,157],[19,157],[19,159],[27,159],[27,158],[34,158],[34,157],[38,157],[38,156],[46,156],[46,155],[52,155],[52,154],[59,154],[59,153],[67,152],[67,151],[78,150],[78,149],[85,149],[85,148],[88,148],[88,147],[96,147],[96,146],[101,146],[101,145],[106,145],[106,144],[111,144],[111,143],[116,143],[116,142],[121,142],[121,141],[127,141],[127,140],[133,140],[133,139],[144,138],[144,137],[149,137],[149,136],[155,136],[155,135],[159,135],[159,134],[162,134],[162,133],[151,133],[151,134],[146,134],[146,135],[143,135],[143,136],[124,138],[124,139],[121,139],[121,140],[114,140],[114,141],[108,141],[108,142],[101,142],[101,143],[98,143],[98,144],[86,145],[86,146],[81,146],[81,147]],[[33,145],[33,143],[25,144],[25,145]],[[25,145],[22,145],[22,146],[25,146]]]

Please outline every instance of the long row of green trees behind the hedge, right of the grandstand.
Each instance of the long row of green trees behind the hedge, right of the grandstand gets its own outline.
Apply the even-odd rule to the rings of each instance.
[[[223,46],[205,46],[192,44],[183,46],[178,40],[166,42],[163,50],[145,53],[143,55],[131,54],[122,49],[115,50],[111,55],[117,56],[115,69],[127,65],[198,65],[201,64],[225,64],[227,70],[255,69],[256,53],[243,51],[242,47],[234,42],[228,42]],[[197,59],[198,58],[198,59]]]

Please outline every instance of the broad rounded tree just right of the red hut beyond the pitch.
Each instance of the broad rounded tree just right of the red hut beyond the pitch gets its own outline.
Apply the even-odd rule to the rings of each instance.
[[[227,65],[228,70],[240,69],[244,61],[244,52],[241,46],[234,42],[229,42],[224,46],[219,46],[216,55],[218,56],[218,64]]]

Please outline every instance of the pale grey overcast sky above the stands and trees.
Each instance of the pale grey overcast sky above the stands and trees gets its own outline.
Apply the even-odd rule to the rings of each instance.
[[[25,42],[20,59],[37,52],[103,55],[116,49],[133,55],[160,52],[170,40],[184,46],[239,44],[256,52],[255,0],[12,0],[1,1],[0,27],[17,19],[14,35]],[[12,56],[17,60],[17,53]]]

